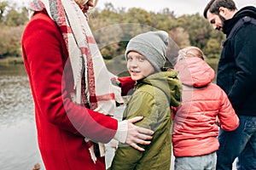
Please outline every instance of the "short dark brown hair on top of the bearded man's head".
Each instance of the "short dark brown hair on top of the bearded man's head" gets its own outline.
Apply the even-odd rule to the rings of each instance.
[[[212,14],[219,14],[220,7],[228,8],[231,11],[237,9],[233,0],[211,0],[204,10],[204,17],[207,19],[207,11]]]

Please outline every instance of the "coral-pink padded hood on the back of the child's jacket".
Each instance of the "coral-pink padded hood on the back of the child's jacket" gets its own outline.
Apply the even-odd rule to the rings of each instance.
[[[177,62],[175,69],[178,77],[184,85],[201,88],[211,83],[215,72],[204,60],[197,57],[189,57]]]

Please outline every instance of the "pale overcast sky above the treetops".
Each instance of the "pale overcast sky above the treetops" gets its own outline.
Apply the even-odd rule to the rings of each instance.
[[[3,0],[0,0],[0,2]],[[28,0],[9,0],[25,4]],[[256,0],[234,0],[237,8],[247,5],[256,6]],[[163,8],[170,8],[177,16],[182,14],[202,14],[209,0],[98,0],[97,8],[104,8],[105,3],[112,3],[114,8],[143,8],[147,11],[159,12]]]

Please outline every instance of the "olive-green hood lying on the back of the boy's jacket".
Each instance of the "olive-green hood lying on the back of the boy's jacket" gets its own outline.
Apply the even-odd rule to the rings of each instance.
[[[170,104],[174,107],[180,105],[182,97],[182,84],[177,78],[177,71],[162,71],[145,77],[137,81],[137,87],[141,84],[149,84],[156,88],[160,88],[167,99],[170,99]]]

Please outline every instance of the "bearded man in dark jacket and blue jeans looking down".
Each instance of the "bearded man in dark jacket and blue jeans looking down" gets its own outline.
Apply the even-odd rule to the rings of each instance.
[[[233,0],[211,0],[204,17],[227,36],[218,61],[217,84],[228,94],[240,126],[220,129],[217,169],[256,169],[256,8],[237,10]]]

